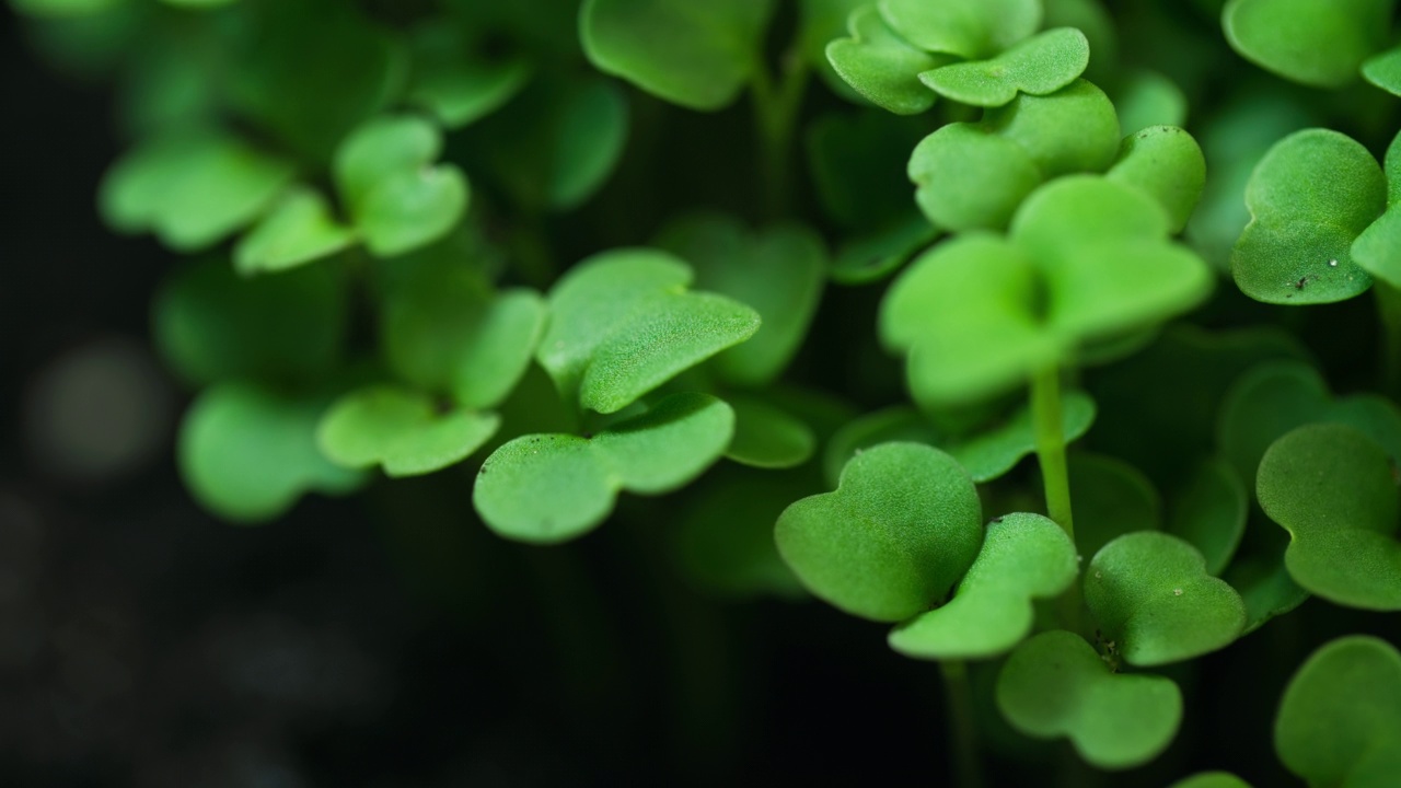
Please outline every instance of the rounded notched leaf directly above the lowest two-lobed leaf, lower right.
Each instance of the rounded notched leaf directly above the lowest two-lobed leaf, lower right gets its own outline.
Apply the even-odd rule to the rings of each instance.
[[[1084,603],[1129,665],[1167,665],[1230,645],[1245,603],[1171,534],[1138,531],[1105,544],[1084,571]]]

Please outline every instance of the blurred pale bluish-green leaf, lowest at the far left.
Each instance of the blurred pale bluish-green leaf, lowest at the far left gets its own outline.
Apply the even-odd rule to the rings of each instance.
[[[364,474],[331,464],[317,449],[325,404],[245,383],[206,388],[179,430],[186,488],[200,506],[240,523],[272,520],[307,492],[352,492]]]

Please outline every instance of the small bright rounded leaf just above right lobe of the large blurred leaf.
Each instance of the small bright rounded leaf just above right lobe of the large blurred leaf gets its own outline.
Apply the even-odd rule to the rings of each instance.
[[[1175,126],[1150,126],[1124,139],[1105,177],[1147,192],[1167,210],[1168,230],[1177,234],[1202,196],[1206,158],[1192,135]]]

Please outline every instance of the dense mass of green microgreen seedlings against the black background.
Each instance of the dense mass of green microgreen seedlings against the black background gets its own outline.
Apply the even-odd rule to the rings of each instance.
[[[195,258],[153,334],[224,519],[429,475],[506,540],[664,530],[940,663],[969,787],[978,708],[1247,785],[1156,760],[1199,658],[1401,610],[1391,0],[11,6],[122,74],[98,208]],[[1401,658],[1323,645],[1275,719],[1393,785]]]

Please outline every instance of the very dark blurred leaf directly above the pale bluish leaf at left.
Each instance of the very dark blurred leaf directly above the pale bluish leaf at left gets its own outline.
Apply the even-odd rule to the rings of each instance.
[[[212,258],[177,271],[153,307],[156,344],[188,383],[314,383],[336,362],[349,322],[346,283],[331,266],[244,279]]]

